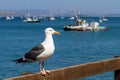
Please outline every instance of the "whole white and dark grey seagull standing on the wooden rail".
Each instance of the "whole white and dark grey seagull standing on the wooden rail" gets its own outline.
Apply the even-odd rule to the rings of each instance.
[[[45,40],[26,52],[23,57],[14,60],[14,62],[23,64],[39,62],[42,75],[49,74],[50,71],[44,69],[44,61],[54,53],[55,46],[52,37],[53,34],[59,35],[60,33],[53,28],[46,28]]]

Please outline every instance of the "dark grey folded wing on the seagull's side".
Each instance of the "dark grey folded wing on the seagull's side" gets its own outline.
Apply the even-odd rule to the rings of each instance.
[[[25,53],[24,58],[26,60],[36,60],[37,56],[44,51],[43,45],[39,44],[31,49],[29,52]]]

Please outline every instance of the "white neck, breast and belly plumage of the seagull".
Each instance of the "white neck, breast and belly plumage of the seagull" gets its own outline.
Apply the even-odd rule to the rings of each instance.
[[[53,30],[53,29],[52,29]],[[55,31],[46,31],[46,38],[45,40],[41,43],[45,49],[45,51],[43,51],[37,58],[38,60],[40,61],[44,61],[46,60],[47,58],[49,58],[53,53],[54,53],[54,50],[55,50],[55,46],[54,46],[54,41],[53,41],[53,38],[52,38],[52,34],[54,33]]]

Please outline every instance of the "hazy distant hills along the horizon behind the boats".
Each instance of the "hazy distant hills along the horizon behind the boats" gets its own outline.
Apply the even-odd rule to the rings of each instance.
[[[0,10],[0,16],[7,16],[7,15],[13,15],[13,16],[23,16],[26,14],[30,15],[39,15],[39,16],[76,16],[74,11],[65,11],[65,10],[42,10],[42,9],[33,9],[33,10]],[[82,12],[80,13],[80,16],[85,17],[120,17],[120,13],[107,13],[107,14],[98,14],[98,13],[92,13],[92,12]]]

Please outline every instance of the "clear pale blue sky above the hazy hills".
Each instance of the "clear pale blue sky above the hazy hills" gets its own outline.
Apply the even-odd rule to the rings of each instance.
[[[0,0],[0,10],[80,10],[83,13],[120,13],[120,0]]]

